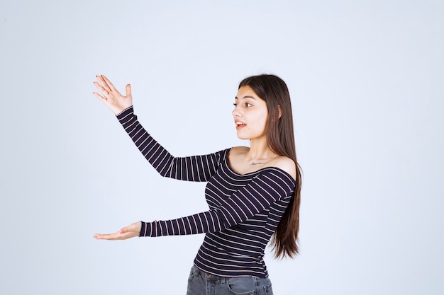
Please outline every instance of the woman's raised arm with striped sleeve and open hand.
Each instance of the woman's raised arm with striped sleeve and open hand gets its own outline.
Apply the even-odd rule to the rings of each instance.
[[[209,181],[211,179],[216,173],[218,164],[226,156],[224,153],[227,153],[228,150],[205,156],[184,158],[172,156],[138,122],[133,110],[131,86],[129,84],[126,86],[126,96],[122,96],[105,76],[96,76],[96,78],[97,81],[94,82],[94,85],[102,95],[96,92],[94,95],[116,115],[135,146],[160,175],[189,181]]]

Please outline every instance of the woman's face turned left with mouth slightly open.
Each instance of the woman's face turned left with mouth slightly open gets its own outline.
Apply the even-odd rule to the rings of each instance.
[[[268,109],[265,100],[256,95],[250,86],[239,88],[235,98],[233,118],[239,139],[265,137]]]

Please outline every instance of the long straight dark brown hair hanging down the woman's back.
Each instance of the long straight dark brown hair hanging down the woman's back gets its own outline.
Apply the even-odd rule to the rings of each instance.
[[[287,84],[278,76],[262,74],[250,76],[239,83],[250,86],[265,100],[268,108],[267,144],[275,153],[291,158],[296,165],[296,187],[291,201],[272,236],[275,258],[294,257],[299,253],[299,207],[301,204],[301,167],[296,160],[292,103]],[[280,115],[280,117],[279,117]]]

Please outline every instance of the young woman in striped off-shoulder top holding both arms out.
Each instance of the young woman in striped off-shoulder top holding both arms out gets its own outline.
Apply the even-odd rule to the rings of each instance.
[[[301,173],[296,161],[287,85],[274,75],[240,82],[233,121],[240,139],[214,154],[176,158],[140,125],[131,86],[122,96],[105,76],[94,84],[102,100],[160,175],[208,182],[209,211],[167,221],[135,222],[97,239],[206,233],[189,274],[188,295],[272,294],[263,260],[271,239],[277,258],[298,253]]]

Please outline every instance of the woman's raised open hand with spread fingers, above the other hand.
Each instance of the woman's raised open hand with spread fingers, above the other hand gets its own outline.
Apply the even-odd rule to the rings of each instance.
[[[99,89],[101,95],[97,92],[93,92],[94,96],[99,98],[104,104],[114,113],[118,115],[123,110],[131,107],[133,105],[133,97],[131,96],[131,85],[126,85],[126,96],[122,96],[120,92],[117,91],[113,83],[106,78],[104,75],[97,75],[97,81],[94,81],[94,85]]]

